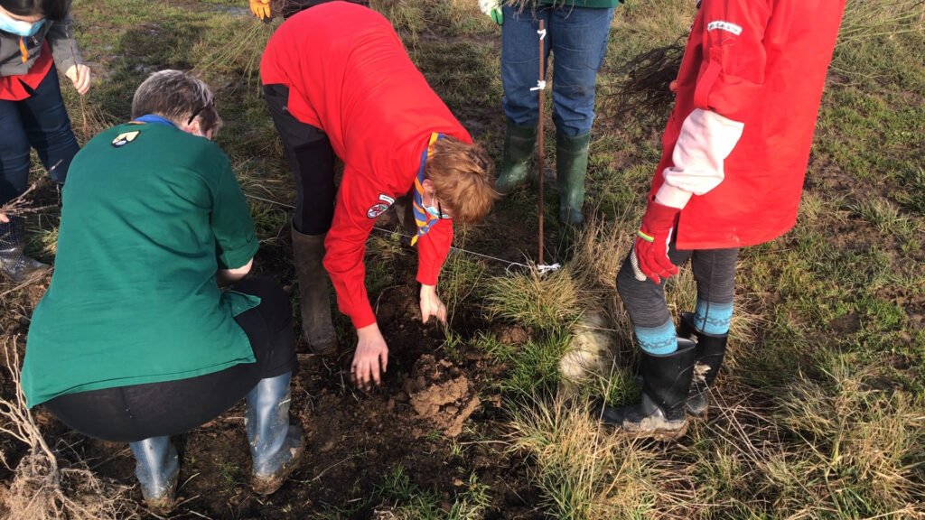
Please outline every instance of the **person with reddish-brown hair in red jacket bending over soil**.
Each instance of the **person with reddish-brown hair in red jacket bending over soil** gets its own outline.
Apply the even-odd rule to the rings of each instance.
[[[388,346],[363,263],[376,217],[413,195],[421,317],[445,322],[436,286],[452,221],[475,222],[490,211],[498,196],[492,162],[427,85],[388,20],[369,8],[328,2],[292,16],[270,38],[260,69],[295,170],[292,242],[304,338],[316,353],[337,346],[324,257],[340,312],[359,336],[353,377],[364,387],[378,384]],[[344,163],[338,190],[335,155]]]

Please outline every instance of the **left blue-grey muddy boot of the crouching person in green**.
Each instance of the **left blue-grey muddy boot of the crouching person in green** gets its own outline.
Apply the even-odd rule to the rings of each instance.
[[[135,476],[142,496],[154,514],[168,514],[177,504],[179,456],[169,437],[152,437],[129,443],[135,454]]]

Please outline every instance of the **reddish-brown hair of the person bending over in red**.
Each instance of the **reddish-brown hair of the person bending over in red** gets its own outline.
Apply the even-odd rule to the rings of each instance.
[[[434,142],[425,173],[453,219],[472,224],[485,217],[500,196],[494,169],[484,148],[447,137]]]

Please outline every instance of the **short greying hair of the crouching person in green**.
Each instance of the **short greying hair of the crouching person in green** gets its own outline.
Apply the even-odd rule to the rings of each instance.
[[[131,118],[146,114],[170,119],[178,125],[199,118],[203,132],[216,133],[222,126],[209,86],[181,70],[154,72],[139,85],[131,100]]]

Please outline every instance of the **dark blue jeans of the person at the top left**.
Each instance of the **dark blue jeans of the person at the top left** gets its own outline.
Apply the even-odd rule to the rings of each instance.
[[[0,204],[26,191],[31,148],[52,180],[64,182],[80,150],[61,98],[55,67],[22,101],[0,100]]]

